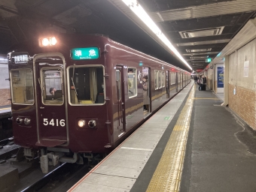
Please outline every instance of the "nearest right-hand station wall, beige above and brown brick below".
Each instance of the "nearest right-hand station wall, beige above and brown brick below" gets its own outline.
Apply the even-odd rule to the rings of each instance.
[[[256,130],[256,39],[229,55],[229,107]],[[234,90],[235,89],[235,90]]]

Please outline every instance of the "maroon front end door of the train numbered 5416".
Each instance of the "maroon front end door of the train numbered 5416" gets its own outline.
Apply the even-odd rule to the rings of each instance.
[[[38,142],[54,147],[68,142],[65,59],[59,53],[35,55],[35,107]]]

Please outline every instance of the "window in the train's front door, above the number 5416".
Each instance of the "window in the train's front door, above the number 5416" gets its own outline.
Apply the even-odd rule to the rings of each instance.
[[[43,68],[41,70],[41,93],[45,105],[62,105],[62,68]]]

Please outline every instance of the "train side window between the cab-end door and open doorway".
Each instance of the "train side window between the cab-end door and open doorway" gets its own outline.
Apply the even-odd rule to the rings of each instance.
[[[137,69],[128,68],[128,97],[134,98],[137,95]]]

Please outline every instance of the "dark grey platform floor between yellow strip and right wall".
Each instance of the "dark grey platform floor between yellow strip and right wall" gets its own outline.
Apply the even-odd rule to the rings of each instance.
[[[256,191],[254,131],[211,91],[195,98],[180,191]]]

